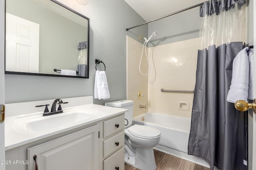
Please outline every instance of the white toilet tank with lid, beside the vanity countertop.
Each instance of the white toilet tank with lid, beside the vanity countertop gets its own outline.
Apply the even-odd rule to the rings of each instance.
[[[125,125],[125,127],[132,125],[132,116],[133,116],[133,101],[132,100],[119,100],[119,101],[115,101],[115,102],[107,102],[107,103],[105,103],[105,106],[128,109],[128,111],[126,111],[124,113],[124,125]]]

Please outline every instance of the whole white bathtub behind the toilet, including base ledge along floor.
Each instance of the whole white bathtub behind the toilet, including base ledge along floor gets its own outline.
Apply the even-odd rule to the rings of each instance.
[[[206,166],[207,168],[210,167],[202,158],[188,155],[190,119],[157,113],[144,113],[134,117],[132,124],[154,127],[161,132],[160,142],[154,149]]]

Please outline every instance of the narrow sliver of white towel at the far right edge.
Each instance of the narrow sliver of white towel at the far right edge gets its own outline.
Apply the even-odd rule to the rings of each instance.
[[[249,60],[249,89],[248,89],[248,99],[253,100],[253,49],[248,51]]]

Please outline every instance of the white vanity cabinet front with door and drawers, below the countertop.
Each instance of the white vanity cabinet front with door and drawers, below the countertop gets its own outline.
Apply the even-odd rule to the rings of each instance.
[[[6,170],[124,170],[124,113],[6,150]],[[26,161],[28,164],[26,164]]]

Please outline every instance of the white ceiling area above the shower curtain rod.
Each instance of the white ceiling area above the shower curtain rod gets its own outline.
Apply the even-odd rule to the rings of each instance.
[[[150,21],[206,0],[124,0],[144,20]]]

